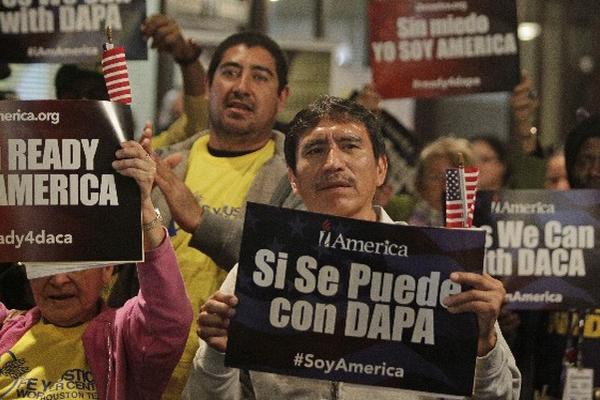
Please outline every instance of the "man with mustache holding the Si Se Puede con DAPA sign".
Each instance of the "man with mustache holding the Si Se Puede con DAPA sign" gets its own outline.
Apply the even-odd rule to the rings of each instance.
[[[365,108],[335,97],[318,99],[292,120],[285,154],[290,184],[309,211],[393,223],[383,209],[373,207],[375,190],[385,180],[387,159],[377,120]],[[200,348],[185,399],[412,398],[395,389],[226,367],[227,327],[239,302],[233,294],[236,276],[237,266],[201,308]],[[474,312],[478,317],[474,398],[517,399],[519,371],[495,323],[504,299],[502,284],[489,275],[467,272],[455,272],[451,279],[474,288],[443,300],[452,313]]]

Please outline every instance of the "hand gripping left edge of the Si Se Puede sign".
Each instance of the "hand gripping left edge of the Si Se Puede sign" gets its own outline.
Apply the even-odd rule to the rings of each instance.
[[[237,304],[238,299],[234,295],[216,292],[200,307],[198,336],[222,353],[227,351],[227,328]]]

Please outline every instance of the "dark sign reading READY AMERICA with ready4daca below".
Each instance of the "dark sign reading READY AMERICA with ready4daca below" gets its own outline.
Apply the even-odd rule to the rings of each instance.
[[[111,165],[132,138],[119,103],[0,102],[0,261],[142,260],[139,188]]]

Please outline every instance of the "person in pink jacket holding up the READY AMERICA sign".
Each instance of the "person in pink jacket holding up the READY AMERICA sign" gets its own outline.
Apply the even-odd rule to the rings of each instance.
[[[150,199],[155,163],[135,141],[115,155],[113,168],[141,193],[140,291],[112,309],[101,298],[112,266],[27,264],[35,307],[0,304],[2,398],[160,399],[183,351],[192,309]]]

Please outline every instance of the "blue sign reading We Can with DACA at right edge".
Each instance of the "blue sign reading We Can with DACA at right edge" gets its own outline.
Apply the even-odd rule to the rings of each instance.
[[[479,192],[476,201],[485,270],[504,282],[508,308],[600,305],[600,191]]]

